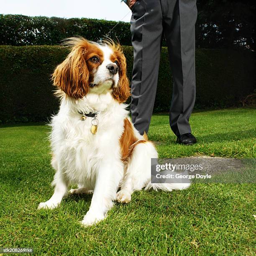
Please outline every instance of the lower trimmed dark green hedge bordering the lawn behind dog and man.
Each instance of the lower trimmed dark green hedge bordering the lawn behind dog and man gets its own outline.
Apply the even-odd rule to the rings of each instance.
[[[133,49],[124,46],[131,79]],[[58,111],[50,74],[67,56],[60,46],[0,46],[0,122],[44,121]],[[248,51],[197,49],[195,108],[240,106],[254,90],[254,54]],[[168,111],[172,79],[167,49],[161,52],[154,111]]]

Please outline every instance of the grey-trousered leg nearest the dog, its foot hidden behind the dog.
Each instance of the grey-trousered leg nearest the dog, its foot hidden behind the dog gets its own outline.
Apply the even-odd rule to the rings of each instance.
[[[131,116],[135,128],[143,134],[148,132],[156,96],[163,31],[160,0],[138,0],[132,13]]]

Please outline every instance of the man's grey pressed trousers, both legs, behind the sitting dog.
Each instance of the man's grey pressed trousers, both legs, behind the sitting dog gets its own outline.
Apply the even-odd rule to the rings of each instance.
[[[191,133],[189,117],[195,104],[196,0],[137,0],[132,13],[132,122],[141,134],[148,132],[164,33],[174,80],[170,126],[177,136]]]

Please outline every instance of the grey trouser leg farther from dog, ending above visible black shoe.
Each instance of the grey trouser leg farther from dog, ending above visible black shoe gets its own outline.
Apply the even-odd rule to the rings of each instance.
[[[176,136],[191,133],[189,117],[195,104],[196,0],[161,0],[164,33],[174,78],[170,126]]]

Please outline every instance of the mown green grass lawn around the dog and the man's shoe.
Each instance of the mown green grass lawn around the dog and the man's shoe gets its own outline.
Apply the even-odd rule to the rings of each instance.
[[[256,110],[198,112],[190,120],[199,143],[174,143],[168,115],[154,115],[148,137],[159,157],[256,156]],[[255,255],[255,184],[192,184],[184,191],[135,192],[108,218],[82,228],[91,195],[69,196],[37,210],[53,193],[49,128],[0,126],[0,247],[32,247],[52,255]]]

